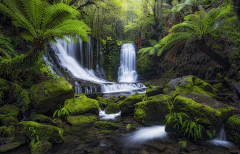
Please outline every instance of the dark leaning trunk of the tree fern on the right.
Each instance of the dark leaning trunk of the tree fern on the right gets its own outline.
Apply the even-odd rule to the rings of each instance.
[[[222,65],[226,70],[230,68],[230,63],[228,62],[228,59],[221,56],[219,53],[213,51],[210,47],[207,46],[205,39],[201,39],[197,42],[198,48],[204,52],[206,55],[208,55],[210,58],[218,62],[220,65]]]

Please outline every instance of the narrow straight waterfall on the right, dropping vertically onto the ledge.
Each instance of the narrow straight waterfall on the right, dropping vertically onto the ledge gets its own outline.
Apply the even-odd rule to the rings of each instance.
[[[134,44],[123,44],[120,54],[120,67],[118,70],[119,82],[135,82],[136,72],[136,52]]]

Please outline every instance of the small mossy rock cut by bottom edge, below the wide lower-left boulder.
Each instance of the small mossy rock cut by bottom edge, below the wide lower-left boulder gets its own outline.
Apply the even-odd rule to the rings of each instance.
[[[52,143],[47,140],[39,141],[31,147],[31,154],[45,154],[51,147]]]

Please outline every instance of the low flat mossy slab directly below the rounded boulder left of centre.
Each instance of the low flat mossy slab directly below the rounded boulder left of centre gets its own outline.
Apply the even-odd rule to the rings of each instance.
[[[89,115],[89,116],[84,116],[84,115],[78,115],[78,116],[67,116],[66,117],[67,123],[73,126],[81,125],[81,124],[89,124],[89,123],[94,123],[97,121],[97,116],[96,115]]]

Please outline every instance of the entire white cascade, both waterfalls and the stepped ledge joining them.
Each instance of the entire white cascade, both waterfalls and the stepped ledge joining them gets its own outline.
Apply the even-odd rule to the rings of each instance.
[[[84,47],[80,38],[78,43],[68,39],[70,44],[66,41],[56,38],[57,44],[50,43],[51,48],[54,50],[55,55],[62,68],[71,74],[73,78],[79,78],[87,81],[97,83],[101,86],[102,93],[121,93],[121,92],[145,92],[146,88],[142,83],[113,83],[106,80],[105,72],[103,69],[103,55],[102,48],[97,54],[97,67],[96,72],[93,70],[93,40],[89,37],[90,43]],[[83,52],[83,49],[85,51]],[[98,50],[97,50],[98,51]],[[119,68],[120,82],[136,82],[136,53],[133,44],[123,44],[121,49],[121,67]],[[129,62],[128,62],[129,61]],[[128,74],[129,73],[129,74]],[[127,80],[126,80],[127,79]],[[91,85],[81,87],[75,83],[76,93],[84,90],[85,93],[97,92],[97,88]],[[84,88],[80,90],[79,88]]]

